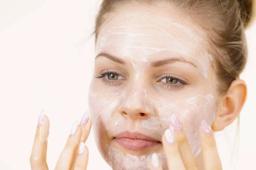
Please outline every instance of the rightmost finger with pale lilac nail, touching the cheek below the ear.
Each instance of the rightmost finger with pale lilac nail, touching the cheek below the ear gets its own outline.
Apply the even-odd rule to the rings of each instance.
[[[222,170],[212,129],[206,120],[202,120],[200,131],[205,170]]]

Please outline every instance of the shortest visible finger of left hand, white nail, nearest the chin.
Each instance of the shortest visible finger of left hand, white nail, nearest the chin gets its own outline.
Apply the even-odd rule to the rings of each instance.
[[[89,150],[84,145],[84,142],[80,143],[79,153],[74,164],[74,170],[86,170],[89,158]]]

